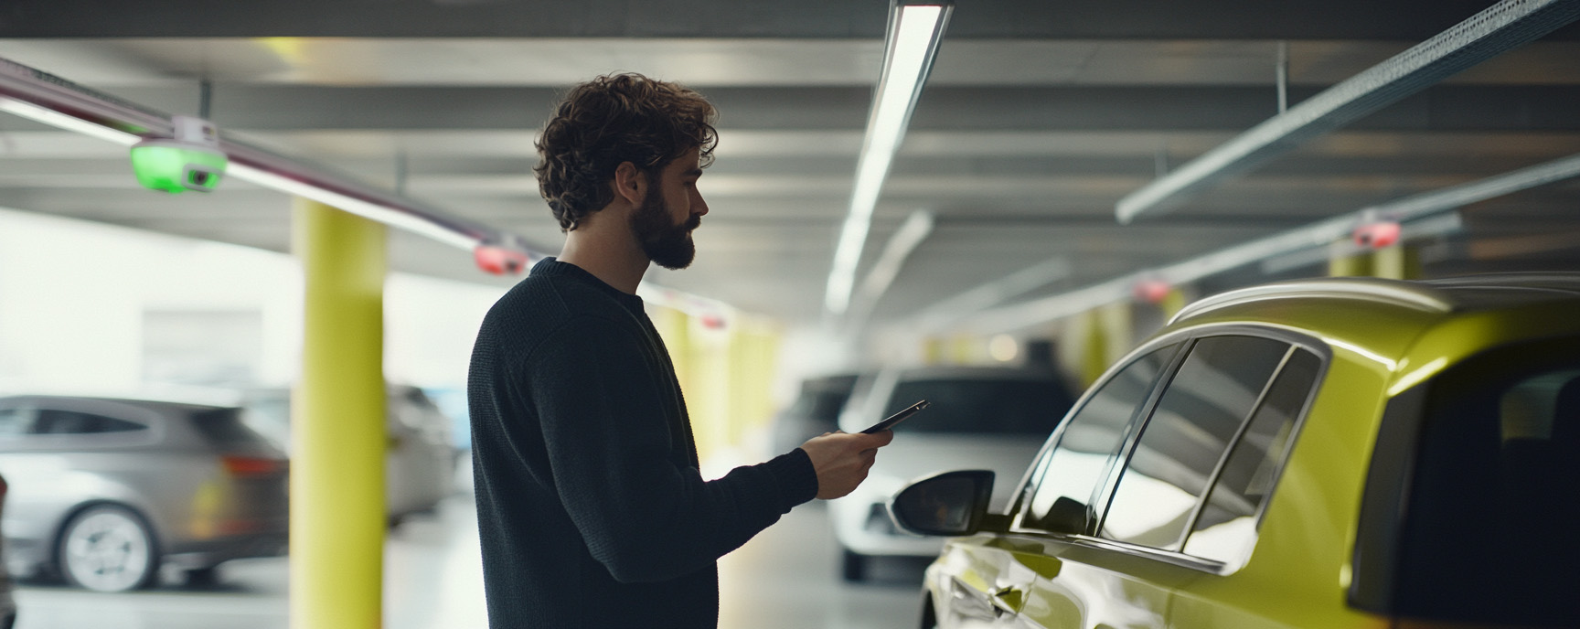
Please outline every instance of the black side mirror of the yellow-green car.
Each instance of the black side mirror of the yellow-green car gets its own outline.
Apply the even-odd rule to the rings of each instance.
[[[991,469],[951,471],[916,480],[890,501],[890,517],[915,534],[969,536],[983,526],[992,480]]]

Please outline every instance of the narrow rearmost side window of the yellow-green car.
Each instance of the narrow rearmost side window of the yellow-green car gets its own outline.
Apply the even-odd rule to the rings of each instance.
[[[1229,566],[1250,556],[1256,542],[1256,517],[1283,469],[1296,422],[1311,397],[1321,367],[1322,360],[1310,351],[1289,354],[1207,493],[1207,503],[1185,540],[1187,555]]]

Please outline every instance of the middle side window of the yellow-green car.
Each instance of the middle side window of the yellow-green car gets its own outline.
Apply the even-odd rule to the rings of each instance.
[[[1289,343],[1262,337],[1196,341],[1141,430],[1098,536],[1179,550],[1196,503]]]

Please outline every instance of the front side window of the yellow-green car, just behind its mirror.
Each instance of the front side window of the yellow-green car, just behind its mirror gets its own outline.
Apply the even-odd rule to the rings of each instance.
[[[1059,444],[1036,463],[1022,526],[1085,533],[1087,523],[1095,518],[1089,507],[1092,496],[1176,349],[1177,343],[1153,349],[1098,384],[1070,417]]]

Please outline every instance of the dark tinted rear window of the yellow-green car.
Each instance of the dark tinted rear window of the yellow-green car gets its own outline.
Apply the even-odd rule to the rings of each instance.
[[[1398,525],[1392,612],[1580,618],[1580,338],[1485,352],[1427,384]]]

